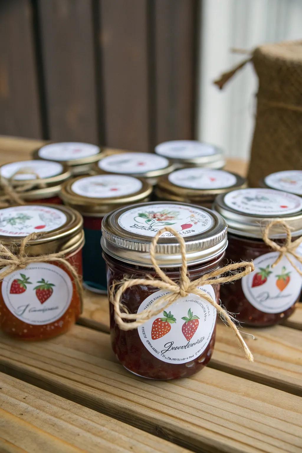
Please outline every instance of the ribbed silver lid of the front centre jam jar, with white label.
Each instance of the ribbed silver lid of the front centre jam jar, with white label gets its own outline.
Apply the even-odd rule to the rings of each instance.
[[[185,240],[189,266],[213,260],[227,246],[226,223],[210,209],[177,202],[139,203],[106,215],[101,245],[117,260],[151,267],[150,245],[164,226],[172,226]],[[164,233],[156,246],[160,267],[182,264],[180,246],[171,233]]]

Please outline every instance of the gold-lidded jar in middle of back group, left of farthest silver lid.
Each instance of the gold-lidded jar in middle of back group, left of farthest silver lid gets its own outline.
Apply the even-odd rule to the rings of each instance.
[[[95,165],[98,173],[125,174],[141,178],[154,185],[159,176],[170,173],[174,167],[168,159],[152,153],[122,152],[107,150],[105,156]]]

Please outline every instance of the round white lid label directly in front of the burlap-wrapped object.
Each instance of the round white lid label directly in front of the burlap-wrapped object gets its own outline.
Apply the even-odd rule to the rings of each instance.
[[[302,195],[302,170],[279,171],[264,178],[267,186],[273,189]]]

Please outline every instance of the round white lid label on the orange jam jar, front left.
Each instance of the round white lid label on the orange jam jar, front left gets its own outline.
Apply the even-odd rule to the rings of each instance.
[[[28,236],[52,231],[67,222],[64,212],[53,207],[26,205],[0,209],[0,235]]]

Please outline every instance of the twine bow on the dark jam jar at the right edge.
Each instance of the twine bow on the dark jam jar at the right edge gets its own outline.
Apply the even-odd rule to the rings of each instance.
[[[275,241],[272,241],[268,237],[269,231],[274,225],[281,225],[286,232],[286,240],[283,246],[279,246]],[[272,264],[272,267],[277,266],[280,260],[282,260],[283,256],[285,256],[292,267],[297,270],[297,273],[302,276],[302,271],[298,269],[298,267],[289,256],[292,255],[299,263],[302,264],[302,256],[298,255],[296,252],[297,247],[302,243],[302,236],[296,239],[296,241],[292,241],[292,233],[288,224],[284,222],[284,220],[273,220],[273,222],[268,223],[268,225],[265,227],[262,238],[267,246],[269,246],[274,251],[279,252],[279,256],[277,260]]]

